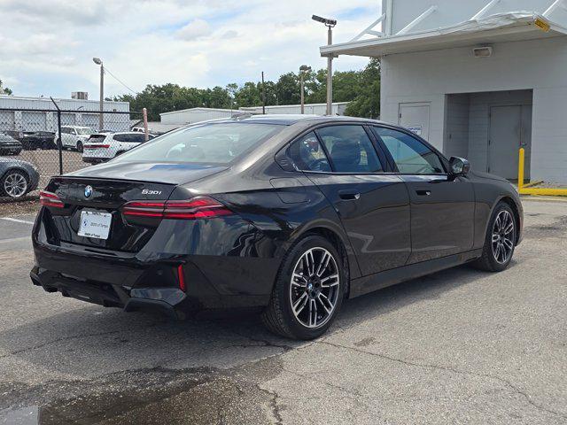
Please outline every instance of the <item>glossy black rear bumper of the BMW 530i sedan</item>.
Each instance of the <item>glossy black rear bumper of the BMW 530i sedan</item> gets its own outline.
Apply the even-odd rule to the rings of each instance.
[[[36,264],[30,277],[36,286],[125,312],[151,310],[183,319],[205,310],[262,307],[269,301],[268,295],[219,293],[187,258],[142,263],[135,257],[104,259],[36,241],[34,245]]]

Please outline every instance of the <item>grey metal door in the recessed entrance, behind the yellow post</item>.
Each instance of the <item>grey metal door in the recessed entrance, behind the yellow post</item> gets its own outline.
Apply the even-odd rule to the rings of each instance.
[[[488,168],[505,179],[517,179],[518,150],[525,150],[525,177],[530,177],[532,147],[532,105],[493,106],[490,108]]]

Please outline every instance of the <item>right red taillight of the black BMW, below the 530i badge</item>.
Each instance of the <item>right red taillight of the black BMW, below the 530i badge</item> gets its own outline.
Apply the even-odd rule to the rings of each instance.
[[[124,215],[171,220],[212,219],[232,212],[212,197],[193,197],[185,201],[131,201],[122,206]]]

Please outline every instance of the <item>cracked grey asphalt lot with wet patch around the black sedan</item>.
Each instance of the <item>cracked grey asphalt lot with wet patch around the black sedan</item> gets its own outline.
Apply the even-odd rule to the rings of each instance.
[[[567,423],[567,202],[524,208],[509,270],[349,300],[309,343],[45,293],[33,216],[0,219],[0,424]]]

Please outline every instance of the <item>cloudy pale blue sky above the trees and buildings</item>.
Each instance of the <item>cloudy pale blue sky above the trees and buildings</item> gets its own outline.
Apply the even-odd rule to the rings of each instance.
[[[16,96],[98,97],[93,57],[130,89],[174,82],[224,87],[326,66],[326,28],[347,42],[380,15],[379,0],[0,0],[0,80]],[[368,58],[340,57],[335,70]],[[105,97],[128,93],[106,73]]]

